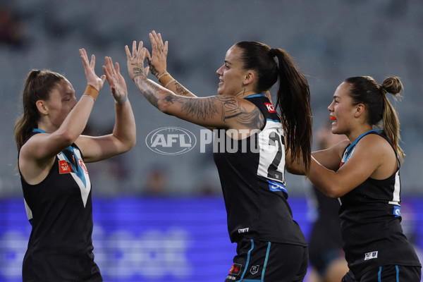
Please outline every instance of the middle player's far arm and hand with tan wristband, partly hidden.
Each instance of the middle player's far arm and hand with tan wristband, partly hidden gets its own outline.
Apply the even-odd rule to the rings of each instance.
[[[184,97],[196,97],[187,88],[181,85],[166,71],[166,58],[168,54],[168,42],[163,43],[161,34],[154,30],[149,33],[150,42],[152,42],[152,56],[149,51],[146,53],[149,71],[160,82],[161,86],[171,90],[173,93]]]

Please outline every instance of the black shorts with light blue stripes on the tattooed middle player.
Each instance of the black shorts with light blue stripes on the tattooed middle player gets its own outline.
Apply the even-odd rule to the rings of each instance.
[[[241,240],[225,282],[301,282],[308,267],[307,247]]]

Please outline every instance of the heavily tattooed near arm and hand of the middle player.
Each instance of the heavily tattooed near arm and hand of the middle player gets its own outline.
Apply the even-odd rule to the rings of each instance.
[[[138,90],[157,109],[185,121],[210,128],[260,128],[262,114],[252,103],[229,95],[183,97],[176,95],[147,78],[144,60],[147,49],[133,42],[131,54],[125,46],[128,72]]]

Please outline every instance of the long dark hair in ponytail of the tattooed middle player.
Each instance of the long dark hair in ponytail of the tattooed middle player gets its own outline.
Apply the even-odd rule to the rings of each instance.
[[[271,49],[260,42],[238,42],[245,69],[257,75],[257,92],[269,90],[278,80],[276,108],[286,133],[287,147],[294,160],[302,159],[308,171],[312,152],[312,107],[307,79],[283,49]],[[277,60],[275,59],[277,58]]]

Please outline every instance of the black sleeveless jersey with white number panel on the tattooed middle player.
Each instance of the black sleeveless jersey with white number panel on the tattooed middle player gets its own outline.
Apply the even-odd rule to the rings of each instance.
[[[266,95],[246,97],[265,118],[250,137],[234,140],[215,130],[214,161],[219,171],[231,242],[243,238],[306,246],[287,202],[285,145],[280,118]],[[237,131],[238,132],[238,131]],[[242,132],[240,132],[242,133]]]

